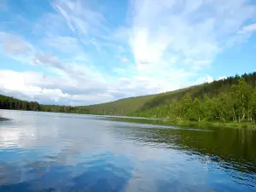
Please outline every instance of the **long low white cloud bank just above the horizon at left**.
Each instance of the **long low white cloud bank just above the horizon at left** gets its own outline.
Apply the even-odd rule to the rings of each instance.
[[[107,84],[106,79],[89,78],[83,81],[65,73],[52,77],[42,73],[0,70],[0,90],[3,94],[42,103],[84,105],[110,102],[122,97],[160,92],[161,84],[165,82],[154,79],[152,84],[147,77],[139,76],[134,79],[120,78]]]

